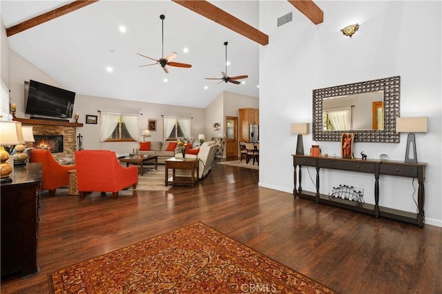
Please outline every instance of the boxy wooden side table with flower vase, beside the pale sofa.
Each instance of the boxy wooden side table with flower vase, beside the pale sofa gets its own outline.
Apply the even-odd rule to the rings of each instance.
[[[200,164],[198,158],[189,159],[176,159],[175,157],[164,160],[166,165],[165,175],[164,175],[164,186],[169,183],[173,185],[190,185],[195,186],[198,179],[200,179]],[[172,169],[172,180],[169,181],[169,168]],[[196,178],[193,170],[196,168]],[[175,170],[191,170],[190,177],[177,177],[175,176]]]

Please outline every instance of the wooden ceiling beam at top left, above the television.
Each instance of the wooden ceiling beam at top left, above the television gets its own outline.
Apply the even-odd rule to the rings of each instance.
[[[95,3],[99,0],[78,0],[68,3],[59,8],[55,8],[54,10],[50,10],[44,14],[40,14],[37,17],[32,17],[32,19],[28,19],[27,21],[23,21],[15,26],[6,29],[6,36],[10,37],[12,35],[18,34],[19,32],[23,32],[23,30],[28,30],[29,28],[33,28],[38,26],[41,23],[46,23],[46,21],[50,21],[52,19],[56,19],[57,17],[61,17],[69,12],[73,12],[79,8],[84,6],[88,6],[89,4]]]

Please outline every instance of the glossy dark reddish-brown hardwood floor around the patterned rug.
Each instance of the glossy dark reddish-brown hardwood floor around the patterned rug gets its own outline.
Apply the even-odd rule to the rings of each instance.
[[[442,293],[441,228],[294,199],[258,187],[258,173],[214,164],[193,188],[115,200],[44,193],[41,271],[2,281],[1,293],[48,293],[48,273],[198,221],[339,293]]]

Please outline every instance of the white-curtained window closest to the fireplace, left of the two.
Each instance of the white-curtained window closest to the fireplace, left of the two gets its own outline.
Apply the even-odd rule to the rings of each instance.
[[[102,112],[100,141],[138,141],[140,115]]]

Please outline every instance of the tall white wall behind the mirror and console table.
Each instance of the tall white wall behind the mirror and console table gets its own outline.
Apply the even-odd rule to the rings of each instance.
[[[442,226],[441,1],[315,3],[324,12],[318,26],[287,1],[260,1],[260,30],[269,35],[269,45],[260,48],[260,186],[292,193],[296,137],[290,124],[311,123],[312,90],[400,75],[401,117],[428,117],[428,133],[416,134],[418,159],[428,163],[425,222]],[[290,11],[294,20],[277,28],[276,19]],[[352,38],[345,37],[340,29],[352,23],[361,26]],[[401,134],[400,144],[358,142],[354,154],[364,150],[372,159],[385,153],[403,161],[406,139]],[[305,150],[311,144],[339,154],[339,142],[305,135]],[[316,170],[302,172],[302,188],[316,190]],[[352,184],[365,189],[365,202],[374,203],[369,175],[321,170],[320,177],[320,193]],[[416,212],[412,179],[382,176],[380,183],[381,206]]]

